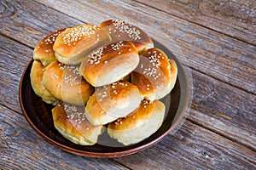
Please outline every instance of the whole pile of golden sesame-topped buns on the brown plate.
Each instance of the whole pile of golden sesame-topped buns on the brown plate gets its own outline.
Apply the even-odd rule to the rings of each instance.
[[[164,121],[177,65],[148,35],[122,20],[49,34],[34,49],[32,88],[55,107],[55,128],[75,144],[96,144],[105,127],[121,144],[136,144]]]

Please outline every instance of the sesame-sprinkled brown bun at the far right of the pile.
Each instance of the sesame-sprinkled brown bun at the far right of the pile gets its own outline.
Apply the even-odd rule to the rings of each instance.
[[[131,72],[131,82],[139,88],[144,99],[161,99],[171,92],[176,81],[177,66],[174,60],[172,65],[171,68],[163,51],[149,48],[140,55],[139,65]]]

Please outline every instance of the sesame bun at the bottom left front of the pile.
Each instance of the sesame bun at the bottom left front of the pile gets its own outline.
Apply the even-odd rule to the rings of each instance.
[[[93,126],[86,119],[84,106],[59,104],[52,109],[55,128],[75,144],[96,144],[103,126]]]

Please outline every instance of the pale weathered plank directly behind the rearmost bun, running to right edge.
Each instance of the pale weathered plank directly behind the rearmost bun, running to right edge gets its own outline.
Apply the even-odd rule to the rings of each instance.
[[[165,44],[184,65],[256,94],[256,48],[251,44],[131,0],[38,2],[95,25],[125,20]]]

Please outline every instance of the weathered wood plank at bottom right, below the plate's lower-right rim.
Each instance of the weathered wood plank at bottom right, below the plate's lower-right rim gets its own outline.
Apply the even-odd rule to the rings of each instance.
[[[115,158],[132,169],[255,169],[256,153],[184,122],[177,133],[134,156]],[[183,159],[177,161],[177,157]]]

